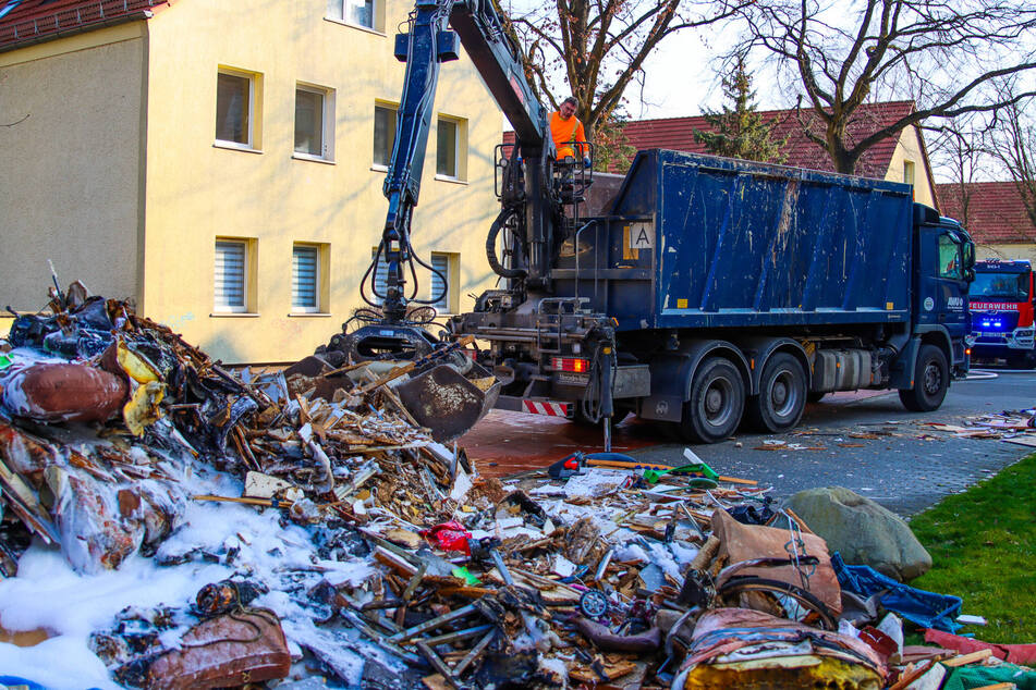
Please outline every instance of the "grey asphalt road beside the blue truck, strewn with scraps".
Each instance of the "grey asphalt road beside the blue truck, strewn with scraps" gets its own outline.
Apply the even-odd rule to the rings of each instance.
[[[808,405],[800,426],[788,433],[739,435],[692,449],[721,475],[772,484],[776,497],[840,485],[910,516],[1033,452],[999,440],[958,439],[926,429],[925,422],[959,423],[985,412],[1034,406],[1036,372],[1000,371],[995,378],[954,382],[942,407],[934,412],[907,411],[894,391],[867,397],[836,394]],[[857,439],[851,433],[879,438]],[[767,441],[804,448],[757,449],[766,447]],[[661,444],[630,454],[673,463],[681,459],[682,451],[682,445]]]

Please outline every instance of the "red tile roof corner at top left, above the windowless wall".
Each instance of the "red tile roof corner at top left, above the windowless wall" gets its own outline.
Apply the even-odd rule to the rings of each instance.
[[[0,51],[145,19],[170,0],[0,0]]]

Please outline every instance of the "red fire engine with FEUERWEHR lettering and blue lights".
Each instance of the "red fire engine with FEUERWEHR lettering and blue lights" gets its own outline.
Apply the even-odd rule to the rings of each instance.
[[[1032,263],[998,259],[977,262],[970,300],[973,356],[1002,358],[1008,366],[1023,369],[1036,367]]]

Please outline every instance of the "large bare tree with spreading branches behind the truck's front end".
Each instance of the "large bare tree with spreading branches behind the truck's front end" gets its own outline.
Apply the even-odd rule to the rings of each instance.
[[[1036,94],[1004,99],[991,88],[1036,67],[1031,0],[759,0],[744,17],[731,54],[761,49],[777,61],[799,95],[807,136],[839,172],[854,172],[867,149],[910,125],[996,111]],[[853,140],[850,124],[870,100],[916,108]]]

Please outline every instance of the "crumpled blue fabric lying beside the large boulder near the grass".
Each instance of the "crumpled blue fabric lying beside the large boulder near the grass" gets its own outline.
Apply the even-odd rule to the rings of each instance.
[[[881,605],[922,628],[956,632],[961,627],[956,623],[956,617],[961,615],[960,596],[914,589],[881,575],[870,566],[845,565],[838,553],[831,555],[831,565],[842,589],[863,599],[888,590],[878,600]]]

